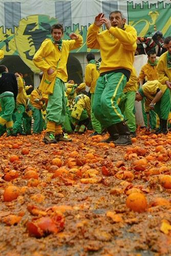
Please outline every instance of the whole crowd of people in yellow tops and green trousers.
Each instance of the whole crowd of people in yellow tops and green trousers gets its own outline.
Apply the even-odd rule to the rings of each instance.
[[[106,30],[100,32],[103,24]],[[67,61],[70,51],[82,46],[82,36],[71,33],[69,40],[62,40],[60,24],[51,27],[51,35],[33,57],[41,73],[39,87],[30,95],[26,91],[31,86],[25,85],[22,74],[0,66],[0,136],[46,130],[43,141],[50,144],[70,142],[67,134],[92,129],[90,136],[109,133],[103,142],[130,145],[131,137],[136,137],[135,100],[142,103],[146,129],[167,133],[171,123],[171,36],[165,38],[165,52],[159,60],[154,49],[147,52],[147,64],[137,75],[133,66],[135,28],[126,24],[119,10],[109,18],[99,13],[88,29],[87,46],[100,50],[101,61],[92,52],[87,54],[84,82],[78,85],[67,82]],[[4,57],[2,50],[0,57]]]

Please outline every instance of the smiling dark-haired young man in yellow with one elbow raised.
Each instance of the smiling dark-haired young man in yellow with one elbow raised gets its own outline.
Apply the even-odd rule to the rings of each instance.
[[[47,106],[47,133],[45,143],[71,141],[62,135],[62,125],[65,121],[65,83],[68,80],[67,60],[70,50],[82,45],[82,36],[75,33],[69,35],[71,40],[62,40],[63,27],[55,24],[51,27],[51,39],[42,42],[33,57],[34,64],[44,71],[39,89],[49,94]]]

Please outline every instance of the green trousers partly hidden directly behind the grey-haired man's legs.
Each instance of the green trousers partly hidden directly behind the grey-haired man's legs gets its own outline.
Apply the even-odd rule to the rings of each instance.
[[[127,126],[131,132],[136,131],[136,119],[135,119],[135,91],[128,91],[125,94],[124,101],[119,104],[122,114],[125,117]]]

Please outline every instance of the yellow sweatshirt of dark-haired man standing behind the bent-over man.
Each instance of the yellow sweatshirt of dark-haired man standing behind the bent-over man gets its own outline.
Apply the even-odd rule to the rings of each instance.
[[[153,81],[158,80],[158,72],[157,72],[157,65],[151,66],[148,63],[142,66],[138,80]]]

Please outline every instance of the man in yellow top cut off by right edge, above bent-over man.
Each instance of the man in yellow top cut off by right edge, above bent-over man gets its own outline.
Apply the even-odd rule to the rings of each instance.
[[[171,36],[165,38],[164,46],[167,51],[160,56],[157,70],[160,83],[166,85],[171,94]]]

